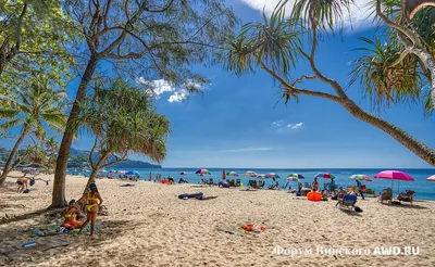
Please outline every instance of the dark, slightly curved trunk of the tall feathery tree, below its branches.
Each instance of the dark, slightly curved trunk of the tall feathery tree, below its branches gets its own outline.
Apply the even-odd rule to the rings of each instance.
[[[77,89],[76,98],[66,122],[65,132],[63,134],[62,142],[59,149],[58,161],[54,171],[54,186],[51,201],[51,208],[65,207],[65,176],[67,161],[70,156],[71,143],[73,142],[74,134],[77,130],[77,119],[80,113],[80,102],[85,100],[87,87],[92,79],[92,75],[97,68],[98,60],[92,55],[86,66]]]

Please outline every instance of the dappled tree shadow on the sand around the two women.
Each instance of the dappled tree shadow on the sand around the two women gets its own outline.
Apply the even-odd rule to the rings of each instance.
[[[99,220],[99,219],[98,219]],[[21,226],[8,225],[0,229],[0,234],[7,242],[0,242],[0,266],[2,265],[38,265],[47,260],[55,258],[63,258],[69,253],[77,253],[77,250],[98,250],[100,246],[113,242],[116,238],[123,237],[128,229],[138,227],[137,224],[132,220],[112,220],[103,219],[100,221],[100,230],[90,237],[86,233],[64,233],[50,237],[30,237],[33,228],[36,226]],[[21,236],[21,237],[16,237]],[[36,247],[39,243],[44,243],[47,240],[60,241],[66,246],[59,246],[52,249]],[[35,247],[21,249],[22,243],[36,241]],[[15,250],[12,253],[2,254],[1,249],[8,247]]]

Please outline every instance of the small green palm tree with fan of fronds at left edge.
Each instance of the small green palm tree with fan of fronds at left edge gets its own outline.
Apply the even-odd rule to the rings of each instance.
[[[0,176],[2,185],[8,174],[14,169],[23,158],[15,164],[13,160],[23,140],[34,135],[37,139],[44,140],[46,137],[45,126],[62,132],[65,125],[65,114],[63,107],[66,100],[64,91],[52,89],[52,82],[41,76],[35,76],[22,88],[16,88],[13,94],[3,98],[0,107],[0,118],[3,124],[1,130],[18,129],[18,138],[9,155]]]

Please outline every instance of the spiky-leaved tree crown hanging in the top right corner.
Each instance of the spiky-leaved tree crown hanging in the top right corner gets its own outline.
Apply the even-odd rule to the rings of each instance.
[[[386,38],[361,38],[368,46],[359,49],[364,55],[353,62],[352,82],[359,80],[378,107],[423,102],[430,114],[435,104],[435,3],[419,12],[403,4],[376,1],[378,30]]]

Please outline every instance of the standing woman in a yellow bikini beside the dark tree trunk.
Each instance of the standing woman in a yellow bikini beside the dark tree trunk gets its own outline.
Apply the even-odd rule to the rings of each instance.
[[[94,182],[89,185],[89,189],[86,190],[86,193],[79,200],[82,203],[86,201],[86,221],[83,224],[82,229],[78,231],[80,233],[83,229],[90,221],[90,236],[94,234],[95,221],[97,219],[98,207],[102,203],[102,199],[100,193],[98,192],[97,185]],[[98,203],[99,202],[99,203]]]

